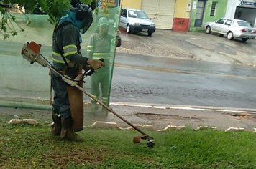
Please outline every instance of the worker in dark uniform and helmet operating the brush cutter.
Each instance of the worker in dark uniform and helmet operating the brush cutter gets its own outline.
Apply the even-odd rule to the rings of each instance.
[[[88,30],[93,21],[92,8],[81,1],[72,1],[70,11],[56,24],[52,34],[52,65],[72,79],[83,69],[104,67],[104,62],[83,57],[80,52],[81,34]],[[51,74],[51,83],[55,92],[52,135],[60,135],[64,140],[80,140],[75,132],[83,129],[83,93],[76,87],[70,87],[54,72]],[[80,120],[78,127],[76,120]]]

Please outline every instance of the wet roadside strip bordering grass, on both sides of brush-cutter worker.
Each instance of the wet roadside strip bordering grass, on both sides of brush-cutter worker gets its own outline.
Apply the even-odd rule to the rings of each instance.
[[[9,122],[11,119],[32,118],[49,124],[52,122],[49,106],[42,108],[28,105],[26,108],[23,104],[23,107],[0,107],[0,121]],[[256,127],[256,110],[184,105],[152,106],[121,102],[113,102],[110,107],[133,125],[142,127],[150,125],[154,130],[165,130],[174,126],[188,126],[194,129],[207,126],[216,127],[216,130],[230,130],[230,127],[237,127],[240,130],[255,131]],[[91,112],[90,108],[90,105],[85,106],[84,126],[91,126],[94,122],[110,122],[122,128],[129,127],[113,113],[101,112],[101,107],[97,112]]]

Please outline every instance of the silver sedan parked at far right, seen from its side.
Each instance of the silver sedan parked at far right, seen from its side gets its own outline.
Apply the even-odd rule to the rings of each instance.
[[[247,21],[239,19],[222,18],[214,22],[206,22],[203,24],[206,34],[216,32],[227,36],[227,39],[234,37],[241,38],[243,42],[256,37],[256,29],[252,28]]]

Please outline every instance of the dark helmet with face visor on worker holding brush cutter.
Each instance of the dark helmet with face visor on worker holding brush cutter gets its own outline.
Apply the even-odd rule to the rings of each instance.
[[[77,4],[72,4],[72,6],[70,6],[70,11],[76,13],[78,29],[80,29],[81,34],[84,34],[93,22],[91,6],[78,1]]]

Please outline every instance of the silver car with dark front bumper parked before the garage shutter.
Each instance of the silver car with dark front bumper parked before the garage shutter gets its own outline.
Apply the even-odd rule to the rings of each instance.
[[[155,32],[155,23],[145,11],[138,9],[122,9],[119,26],[127,33],[147,32],[151,36]]]

